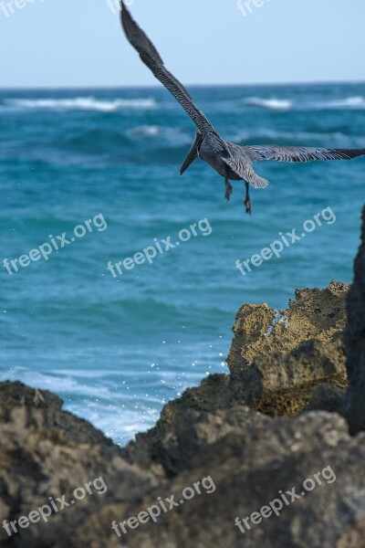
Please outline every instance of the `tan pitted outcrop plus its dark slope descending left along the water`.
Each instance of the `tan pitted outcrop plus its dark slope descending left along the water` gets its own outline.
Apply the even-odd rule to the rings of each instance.
[[[126,457],[137,458],[141,464],[151,458],[160,462],[158,451],[166,429],[187,409],[212,411],[248,405],[271,416],[293,416],[323,383],[345,388],[342,332],[348,290],[349,286],[338,281],[326,290],[297,290],[297,300],[291,300],[280,316],[287,318],[287,326],[264,304],[242,307],[227,358],[231,375],[210,375],[200,386],[169,402],[156,427],[138,437],[138,443],[127,448]]]

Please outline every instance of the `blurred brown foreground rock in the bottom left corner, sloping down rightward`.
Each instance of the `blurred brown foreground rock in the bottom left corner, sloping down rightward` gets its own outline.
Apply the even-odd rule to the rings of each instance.
[[[18,532],[10,528],[11,536],[0,528],[0,546],[6,548],[53,546],[59,538],[71,538],[79,522],[108,501],[135,500],[158,484],[151,469],[128,463],[110,439],[62,411],[57,395],[39,391],[43,401],[39,395],[35,401],[35,394],[21,383],[0,384],[0,522],[49,506],[49,497],[59,510],[57,498],[66,495],[71,501],[77,488],[88,496],[47,522],[28,522],[24,529],[15,524]],[[89,485],[92,494],[85,488],[90,481],[95,481]]]

